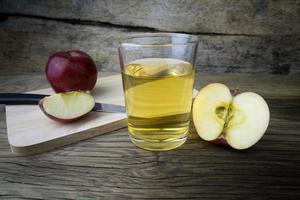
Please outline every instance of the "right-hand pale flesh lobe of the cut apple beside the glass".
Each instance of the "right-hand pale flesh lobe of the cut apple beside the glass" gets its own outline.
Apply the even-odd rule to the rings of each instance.
[[[235,149],[246,149],[258,142],[268,128],[270,111],[256,93],[245,92],[233,98],[232,118],[225,129],[226,141]]]

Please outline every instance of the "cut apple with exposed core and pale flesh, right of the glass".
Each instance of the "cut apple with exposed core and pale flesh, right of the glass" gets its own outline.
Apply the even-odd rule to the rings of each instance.
[[[193,104],[193,122],[198,135],[234,149],[247,149],[264,135],[270,120],[266,101],[258,94],[232,95],[221,83],[201,89]]]

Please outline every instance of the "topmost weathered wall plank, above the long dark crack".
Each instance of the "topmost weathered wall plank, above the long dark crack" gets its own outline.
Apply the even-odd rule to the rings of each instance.
[[[2,0],[0,12],[89,20],[161,31],[299,34],[299,0]]]

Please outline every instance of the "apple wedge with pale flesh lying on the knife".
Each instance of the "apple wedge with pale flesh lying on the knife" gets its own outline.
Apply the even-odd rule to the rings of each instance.
[[[73,122],[89,113],[95,105],[94,97],[86,92],[57,93],[39,101],[41,110],[51,119]]]

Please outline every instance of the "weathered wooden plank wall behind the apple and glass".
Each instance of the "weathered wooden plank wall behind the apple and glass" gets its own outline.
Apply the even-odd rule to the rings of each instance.
[[[198,35],[201,72],[300,73],[300,0],[0,0],[0,13],[0,73],[68,49],[119,71],[118,41],[143,32]]]

